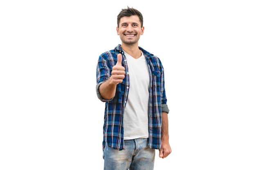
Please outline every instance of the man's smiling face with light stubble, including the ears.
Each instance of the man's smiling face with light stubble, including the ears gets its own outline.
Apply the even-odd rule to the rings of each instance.
[[[117,35],[120,36],[124,44],[136,44],[140,35],[144,33],[144,26],[141,28],[139,17],[132,15],[130,17],[121,17]]]

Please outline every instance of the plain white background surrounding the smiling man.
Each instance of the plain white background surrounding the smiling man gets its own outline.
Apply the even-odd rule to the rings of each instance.
[[[127,6],[165,68],[173,151],[155,170],[255,170],[253,0],[1,1],[0,169],[103,169],[96,65]]]

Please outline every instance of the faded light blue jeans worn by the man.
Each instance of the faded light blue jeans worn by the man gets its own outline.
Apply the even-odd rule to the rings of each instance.
[[[155,149],[148,148],[148,138],[124,140],[125,150],[105,145],[104,170],[153,170]]]

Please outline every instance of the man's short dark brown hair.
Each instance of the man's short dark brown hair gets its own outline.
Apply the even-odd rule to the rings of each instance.
[[[127,9],[122,9],[122,11],[117,15],[117,27],[119,28],[121,17],[130,17],[132,15],[137,15],[139,17],[139,21],[142,28],[143,26],[142,14],[137,9],[129,8],[129,7],[127,7]]]

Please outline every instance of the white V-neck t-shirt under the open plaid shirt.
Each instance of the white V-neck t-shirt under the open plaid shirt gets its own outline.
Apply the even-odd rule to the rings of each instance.
[[[135,59],[124,52],[130,87],[124,111],[124,139],[148,137],[149,72],[145,56]]]

